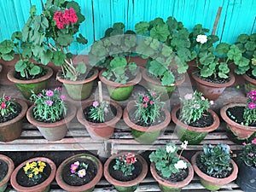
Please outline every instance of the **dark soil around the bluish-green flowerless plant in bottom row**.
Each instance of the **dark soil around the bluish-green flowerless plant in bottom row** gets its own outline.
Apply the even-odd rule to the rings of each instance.
[[[207,174],[207,166],[205,166],[203,163],[201,163],[201,160],[200,160],[200,157],[201,155],[198,155],[195,159],[195,163],[196,163],[196,166],[198,166],[198,168],[201,170],[201,172],[204,172],[205,174]],[[222,172],[220,173],[217,173],[216,171],[213,171],[211,173],[211,177],[216,177],[216,178],[224,178],[224,177],[229,177],[231,175],[231,173],[233,172],[233,166],[232,164],[230,164],[230,167],[231,169],[228,170],[228,169],[225,169],[223,170]],[[207,174],[208,175],[208,174]]]

